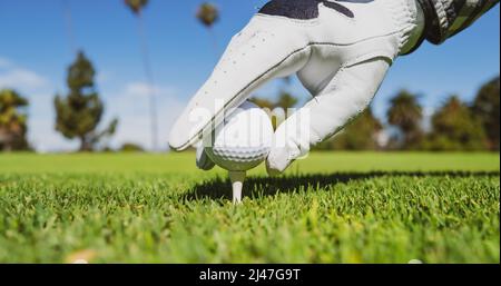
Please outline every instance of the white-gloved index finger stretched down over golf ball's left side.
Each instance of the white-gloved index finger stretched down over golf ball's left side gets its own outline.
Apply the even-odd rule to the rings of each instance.
[[[169,145],[184,150],[237,108],[250,92],[276,78],[292,75],[307,61],[307,37],[291,21],[255,16],[236,34],[204,86],[174,125]]]

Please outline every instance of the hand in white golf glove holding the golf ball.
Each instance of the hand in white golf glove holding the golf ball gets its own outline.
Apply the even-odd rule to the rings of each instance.
[[[393,60],[412,50],[423,28],[415,0],[273,0],[232,39],[174,125],[169,145],[188,148],[253,90],[297,73],[314,98],[275,132],[267,167],[282,172],[367,107]],[[212,168],[207,159],[199,150],[197,166]]]

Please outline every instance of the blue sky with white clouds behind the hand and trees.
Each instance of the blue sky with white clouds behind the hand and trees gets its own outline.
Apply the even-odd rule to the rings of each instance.
[[[122,0],[0,0],[0,89],[12,88],[30,101],[29,140],[38,151],[73,150],[78,141],[55,131],[55,95],[65,95],[67,67],[84,50],[97,70],[105,101],[102,125],[119,118],[108,142],[150,147],[148,90],[157,95],[159,145],[167,148],[176,117],[210,75],[224,48],[263,7],[264,0],[214,0],[220,20],[210,33],[196,19],[199,0],[149,0],[144,11],[154,75],[150,87],[143,69],[138,22]],[[399,58],[372,102],[384,121],[387,101],[400,89],[420,95],[426,114],[450,95],[471,101],[480,85],[500,70],[499,4],[472,27],[441,46],[425,42]],[[216,46],[214,45],[216,42]],[[255,93],[273,97],[274,81]],[[288,89],[305,102],[308,92],[297,79]]]

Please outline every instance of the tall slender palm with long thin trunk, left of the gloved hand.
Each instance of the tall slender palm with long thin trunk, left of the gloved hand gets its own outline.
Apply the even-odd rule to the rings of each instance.
[[[151,65],[149,61],[148,46],[146,41],[146,30],[143,18],[143,9],[148,4],[148,0],[125,0],[127,7],[138,18],[138,33],[143,55],[143,67],[145,70],[146,79],[149,86],[149,109],[151,120],[151,149],[157,150],[158,138],[158,121],[156,110],[156,95],[155,95],[155,80],[153,76]]]

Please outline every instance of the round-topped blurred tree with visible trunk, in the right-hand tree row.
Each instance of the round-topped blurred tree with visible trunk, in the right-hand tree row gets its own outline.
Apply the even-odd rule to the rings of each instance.
[[[391,101],[387,121],[399,127],[403,135],[404,148],[412,148],[422,139],[421,120],[423,110],[418,98],[406,90],[401,90]]]

